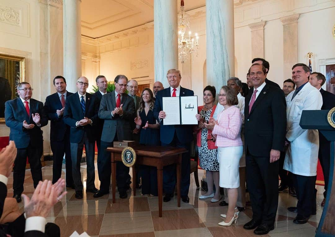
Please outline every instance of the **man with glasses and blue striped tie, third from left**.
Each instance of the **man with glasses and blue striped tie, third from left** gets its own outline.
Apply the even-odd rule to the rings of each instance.
[[[80,160],[85,145],[87,179],[86,192],[97,193],[94,179],[94,146],[95,127],[98,119],[99,100],[87,93],[88,79],[80,77],[77,80],[78,92],[70,95],[65,101],[64,122],[70,128],[70,146],[72,159],[72,176],[76,190],[75,197],[83,197],[81,182]]]

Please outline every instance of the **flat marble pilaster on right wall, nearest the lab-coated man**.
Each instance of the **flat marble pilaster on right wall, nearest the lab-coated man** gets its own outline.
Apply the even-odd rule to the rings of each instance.
[[[291,78],[291,68],[298,63],[298,18],[299,14],[280,18],[283,23],[284,80]]]

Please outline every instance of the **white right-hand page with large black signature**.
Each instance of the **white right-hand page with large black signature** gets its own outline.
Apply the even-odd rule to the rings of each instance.
[[[198,97],[182,96],[180,97],[182,124],[198,124],[195,115],[198,113]]]

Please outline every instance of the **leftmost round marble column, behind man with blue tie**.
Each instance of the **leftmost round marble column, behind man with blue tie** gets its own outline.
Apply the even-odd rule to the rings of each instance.
[[[63,41],[64,41],[64,77],[67,90],[76,92],[78,77],[81,76],[81,0],[64,0]]]

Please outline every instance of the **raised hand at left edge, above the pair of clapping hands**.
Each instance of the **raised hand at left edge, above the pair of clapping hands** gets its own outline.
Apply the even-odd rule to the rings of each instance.
[[[0,174],[8,178],[13,169],[17,149],[14,141],[9,141],[9,145],[0,151]]]

